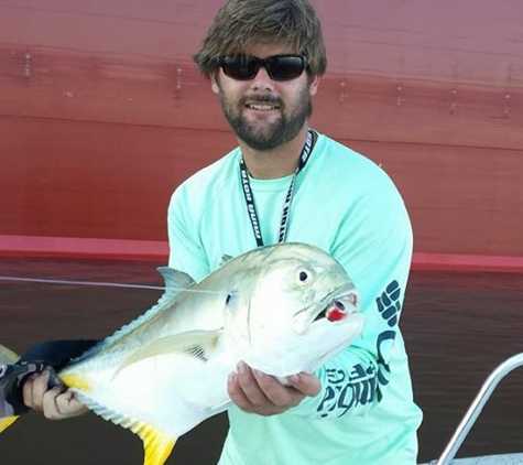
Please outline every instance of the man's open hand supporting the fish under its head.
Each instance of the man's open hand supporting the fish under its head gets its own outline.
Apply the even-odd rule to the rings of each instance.
[[[296,407],[306,396],[317,396],[322,390],[314,375],[301,372],[287,377],[287,381],[290,386],[283,386],[276,378],[240,361],[238,372],[229,376],[227,390],[240,409],[266,417]]]

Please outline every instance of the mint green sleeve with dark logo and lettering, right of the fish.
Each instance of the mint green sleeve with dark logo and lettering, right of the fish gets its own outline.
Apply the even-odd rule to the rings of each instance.
[[[347,212],[330,250],[361,294],[362,335],[317,370],[322,392],[306,398],[293,413],[315,419],[364,415],[392,396],[388,388],[396,372],[391,360],[394,350],[404,350],[397,325],[412,244],[405,206],[385,176]]]

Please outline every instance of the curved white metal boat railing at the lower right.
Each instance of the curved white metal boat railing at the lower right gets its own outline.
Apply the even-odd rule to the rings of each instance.
[[[436,465],[450,465],[450,461],[456,456],[456,453],[465,441],[465,437],[467,437],[470,429],[476,423],[476,420],[483,410],[483,407],[489,400],[493,390],[506,375],[521,366],[523,366],[523,353],[508,358],[490,374],[478,392],[478,396],[476,396],[476,399],[469,407],[469,410],[461,420],[461,423],[459,423],[459,426],[456,429],[456,432],[447,444],[447,447],[445,447],[445,451],[436,461]]]

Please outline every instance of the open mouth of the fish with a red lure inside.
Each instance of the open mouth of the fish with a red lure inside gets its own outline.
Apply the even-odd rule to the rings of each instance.
[[[329,292],[319,302],[302,309],[294,315],[291,326],[296,333],[303,334],[313,323],[325,320],[336,323],[347,318],[359,312],[358,304],[358,291],[348,283]]]

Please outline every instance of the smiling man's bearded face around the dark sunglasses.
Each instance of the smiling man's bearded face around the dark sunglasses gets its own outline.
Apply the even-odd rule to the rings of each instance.
[[[286,46],[258,45],[246,53],[265,58],[294,52]],[[233,79],[219,69],[211,84],[236,136],[263,151],[291,141],[308,123],[318,78],[310,82],[304,72],[295,79],[273,80],[261,66],[249,80]]]

